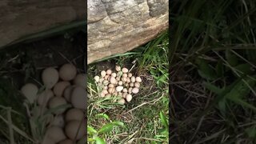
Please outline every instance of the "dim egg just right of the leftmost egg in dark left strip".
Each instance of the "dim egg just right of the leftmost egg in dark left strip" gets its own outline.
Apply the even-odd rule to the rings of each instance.
[[[38,94],[38,105],[46,106],[50,98],[54,97],[54,92],[52,90],[43,90],[42,93]]]

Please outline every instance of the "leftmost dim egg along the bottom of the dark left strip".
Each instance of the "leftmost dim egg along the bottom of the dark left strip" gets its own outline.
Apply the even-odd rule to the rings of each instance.
[[[62,130],[61,127],[58,127],[58,126],[50,126],[46,130],[46,137],[49,137],[56,143],[66,139],[66,135],[64,134],[64,131]]]

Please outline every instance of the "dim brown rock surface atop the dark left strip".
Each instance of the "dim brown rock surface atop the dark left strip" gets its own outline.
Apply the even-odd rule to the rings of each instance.
[[[0,47],[26,35],[85,18],[84,0],[1,0]]]

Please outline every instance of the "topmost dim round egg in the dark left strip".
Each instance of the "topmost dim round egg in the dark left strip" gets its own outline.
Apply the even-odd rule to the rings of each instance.
[[[66,63],[58,70],[58,74],[62,80],[70,81],[77,75],[77,69],[74,65]]]

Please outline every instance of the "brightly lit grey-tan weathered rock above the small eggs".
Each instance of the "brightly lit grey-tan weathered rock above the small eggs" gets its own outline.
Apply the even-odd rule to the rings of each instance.
[[[168,0],[88,0],[88,63],[149,42],[168,19]]]

